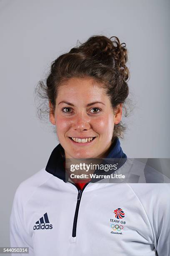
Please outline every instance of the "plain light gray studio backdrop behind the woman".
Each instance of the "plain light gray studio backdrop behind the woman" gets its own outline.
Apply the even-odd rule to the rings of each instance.
[[[52,125],[36,117],[35,85],[77,39],[103,34],[127,44],[136,106],[122,148],[131,158],[170,157],[169,21],[168,0],[0,1],[0,246],[10,245],[15,190],[58,143]]]

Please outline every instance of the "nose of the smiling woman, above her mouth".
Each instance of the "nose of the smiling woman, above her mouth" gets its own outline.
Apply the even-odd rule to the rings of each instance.
[[[90,129],[90,117],[87,113],[77,113],[72,120],[72,128],[78,132]]]

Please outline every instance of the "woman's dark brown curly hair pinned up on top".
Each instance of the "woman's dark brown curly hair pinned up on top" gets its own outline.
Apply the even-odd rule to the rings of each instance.
[[[127,61],[126,44],[120,44],[116,36],[110,38],[102,35],[92,36],[85,43],[79,42],[79,45],[77,43],[77,46],[68,53],[55,59],[46,81],[39,81],[35,92],[43,99],[50,101],[55,109],[57,89],[63,81],[72,77],[92,77],[96,82],[102,83],[106,89],[113,110],[116,110],[117,105],[122,103],[125,116],[127,116],[124,106],[129,94],[127,81],[130,72],[125,65]],[[45,105],[42,104],[41,107],[45,107]],[[49,113],[49,111],[47,104],[45,110],[38,108],[38,117],[42,118],[42,113]],[[112,142],[115,137],[122,138],[125,129],[122,121],[115,125]]]

